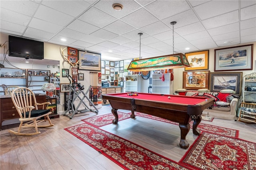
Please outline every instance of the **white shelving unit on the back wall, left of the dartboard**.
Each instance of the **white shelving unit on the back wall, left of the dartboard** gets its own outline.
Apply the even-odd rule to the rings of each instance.
[[[125,92],[141,92],[141,76],[125,76]]]

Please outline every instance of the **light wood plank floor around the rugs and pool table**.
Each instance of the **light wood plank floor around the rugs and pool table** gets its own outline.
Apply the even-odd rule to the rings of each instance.
[[[129,113],[129,111],[120,110]],[[102,106],[99,113],[86,112],[74,115],[73,119],[60,115],[51,119],[50,128],[39,128],[41,134],[16,136],[8,129],[0,131],[1,170],[120,170],[120,166],[92,149],[64,130],[66,127],[84,123],[82,119],[111,113],[111,107]],[[114,118],[114,117],[113,117]],[[202,123],[239,130],[239,138],[256,142],[256,124],[216,119]],[[17,129],[17,127],[12,128]],[[179,161],[187,150],[179,147],[180,129],[172,125],[144,117],[126,119],[118,125],[101,127],[110,133],[128,139],[142,147]],[[190,129],[187,140],[192,145],[197,136]]]

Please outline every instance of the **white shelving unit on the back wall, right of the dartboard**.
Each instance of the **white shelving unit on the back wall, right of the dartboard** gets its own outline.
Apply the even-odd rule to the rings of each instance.
[[[164,74],[164,81],[162,81],[162,74],[152,74],[152,93],[173,94],[170,73]]]

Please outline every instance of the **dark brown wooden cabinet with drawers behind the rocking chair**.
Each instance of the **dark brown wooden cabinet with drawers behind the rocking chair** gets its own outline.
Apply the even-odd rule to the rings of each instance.
[[[38,95],[36,96],[36,102],[43,103],[46,102],[46,95]],[[0,104],[1,104],[1,113],[0,113],[0,128],[2,129],[2,122],[8,119],[16,119],[20,118],[10,95],[8,96],[0,96]],[[34,104],[34,102],[33,102]],[[38,109],[42,109],[42,106],[38,106]]]

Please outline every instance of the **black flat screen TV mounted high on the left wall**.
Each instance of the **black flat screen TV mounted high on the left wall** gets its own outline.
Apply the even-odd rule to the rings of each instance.
[[[44,42],[9,35],[9,56],[44,59]]]

